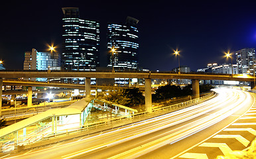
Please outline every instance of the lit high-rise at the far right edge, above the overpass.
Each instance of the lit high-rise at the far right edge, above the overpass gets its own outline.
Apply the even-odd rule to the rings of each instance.
[[[255,48],[243,48],[235,52],[238,74],[251,74],[255,72]]]

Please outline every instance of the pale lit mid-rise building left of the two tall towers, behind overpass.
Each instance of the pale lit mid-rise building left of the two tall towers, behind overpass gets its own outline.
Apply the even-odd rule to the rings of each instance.
[[[60,70],[60,60],[57,52],[38,52],[32,48],[31,52],[25,52],[23,70]],[[36,80],[46,81],[46,78]]]

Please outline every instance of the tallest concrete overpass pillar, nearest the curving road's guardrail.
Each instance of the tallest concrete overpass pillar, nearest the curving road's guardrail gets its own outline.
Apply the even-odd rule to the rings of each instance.
[[[145,111],[152,113],[151,78],[145,78]]]

